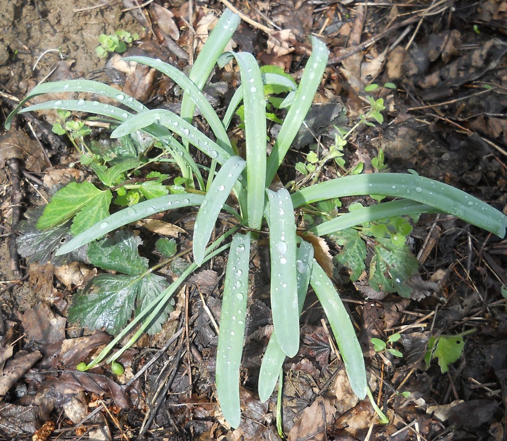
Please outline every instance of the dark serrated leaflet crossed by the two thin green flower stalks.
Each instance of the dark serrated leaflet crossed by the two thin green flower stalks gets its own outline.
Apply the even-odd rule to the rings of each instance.
[[[136,300],[136,309],[135,315],[137,316],[143,311],[145,308],[149,306],[149,304],[155,300],[167,287],[169,284],[167,281],[156,274],[149,273],[139,282],[137,287],[137,300]],[[150,335],[154,335],[157,332],[160,332],[162,329],[162,325],[167,321],[169,317],[169,313],[172,312],[173,302],[167,302],[167,306],[164,309],[161,309],[157,317],[152,320],[151,325],[147,328],[147,332]]]

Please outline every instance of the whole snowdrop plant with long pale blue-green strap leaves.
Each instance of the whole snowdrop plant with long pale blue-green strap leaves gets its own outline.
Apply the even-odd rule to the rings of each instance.
[[[184,90],[180,115],[168,110],[147,109],[110,86],[75,80],[35,87],[9,116],[6,123],[6,126],[9,126],[14,114],[20,111],[22,105],[41,93],[55,91],[99,93],[117,99],[123,107],[104,105],[98,101],[59,100],[33,105],[22,111],[50,108],[100,114],[117,122],[118,126],[113,130],[112,138],[126,137],[138,130],[146,131],[172,155],[182,176],[190,183],[197,182],[201,190],[198,193],[191,191],[151,198],[112,215],[94,219],[93,222],[96,223],[93,226],[82,230],[60,247],[57,254],[69,253],[123,225],[156,213],[183,207],[197,207],[192,265],[138,312],[130,324],[118,333],[95,360],[81,368],[90,368],[102,361],[134,326],[141,324],[128,344],[107,359],[107,362],[115,363],[119,355],[132,345],[140,333],[161,313],[186,277],[211,257],[228,249],[216,352],[216,391],[224,417],[232,427],[238,427],[241,421],[239,368],[247,313],[250,243],[258,238],[261,231],[269,234],[271,308],[274,323],[274,331],[261,366],[259,380],[261,399],[266,400],[272,394],[285,357],[294,357],[298,353],[299,318],[309,287],[315,292],[329,320],[352,389],[363,399],[367,394],[366,369],[352,322],[333,281],[314,259],[313,247],[296,234],[295,210],[313,202],[350,195],[377,194],[399,198],[343,214],[317,225],[311,230],[317,236],[376,219],[425,212],[449,213],[500,236],[504,235],[507,225],[505,216],[479,199],[449,185],[408,174],[346,176],[302,188],[293,194],[285,188],[270,190],[278,168],[310,109],[327,65],[329,52],[321,41],[311,39],[312,53],[299,86],[296,87],[283,76],[262,74],[255,57],[250,53],[221,54],[238,23],[239,18],[230,11],[223,14],[188,77],[158,59],[140,56],[126,58],[128,61],[154,67],[172,78]],[[241,85],[232,97],[224,119],[220,120],[204,97],[202,88],[215,62],[218,61],[219,66],[223,67],[233,60],[239,67]],[[273,149],[269,155],[266,148],[268,132],[264,94],[267,84],[285,88],[287,93],[284,100],[287,112],[276,139],[271,140]],[[246,146],[244,158],[238,155],[227,133],[234,111],[241,103],[244,106]],[[212,134],[205,134],[192,125],[195,106],[200,109],[208,122]],[[178,139],[181,142],[177,141]],[[204,180],[188,146],[197,148],[211,159],[207,180]],[[237,203],[228,205],[228,200],[233,200],[229,198],[230,194],[235,195]],[[55,211],[57,211],[55,208],[49,209],[41,219],[54,214]],[[208,246],[221,211],[233,216],[236,226],[231,227]],[[68,220],[69,216],[64,218],[61,216],[46,218],[44,226],[57,225],[63,220]],[[226,239],[229,236],[232,236],[232,241],[227,243]]]

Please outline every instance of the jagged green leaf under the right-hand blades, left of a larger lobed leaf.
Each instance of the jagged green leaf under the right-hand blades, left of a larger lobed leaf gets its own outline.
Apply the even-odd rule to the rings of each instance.
[[[335,256],[334,260],[341,266],[350,268],[350,280],[355,282],[366,269],[366,245],[361,239],[359,232],[352,228],[345,228],[330,235],[330,239],[343,249]]]

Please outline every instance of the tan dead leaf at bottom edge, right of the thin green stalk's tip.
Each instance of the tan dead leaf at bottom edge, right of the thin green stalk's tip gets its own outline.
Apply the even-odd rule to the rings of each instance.
[[[325,428],[335,419],[336,409],[328,398],[321,396],[298,415],[298,421],[287,435],[287,441],[324,441]]]

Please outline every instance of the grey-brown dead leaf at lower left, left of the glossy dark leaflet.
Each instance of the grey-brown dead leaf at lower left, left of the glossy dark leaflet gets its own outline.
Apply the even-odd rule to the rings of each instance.
[[[63,340],[66,322],[47,303],[39,303],[23,314],[23,328],[28,338],[43,345]]]

